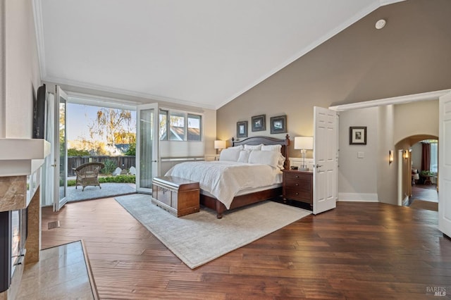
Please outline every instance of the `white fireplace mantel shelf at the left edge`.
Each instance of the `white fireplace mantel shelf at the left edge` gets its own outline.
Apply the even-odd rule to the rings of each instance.
[[[30,175],[50,154],[45,139],[0,139],[0,176]]]

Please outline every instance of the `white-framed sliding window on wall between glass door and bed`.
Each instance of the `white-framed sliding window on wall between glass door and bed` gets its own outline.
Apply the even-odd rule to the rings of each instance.
[[[160,141],[202,141],[202,115],[159,111]]]

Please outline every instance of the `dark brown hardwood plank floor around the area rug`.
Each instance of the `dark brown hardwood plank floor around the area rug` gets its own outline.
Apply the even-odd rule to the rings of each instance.
[[[59,220],[61,227],[48,230]],[[225,219],[224,219],[225,220]],[[437,299],[451,240],[436,211],[338,202],[195,270],[112,198],[42,210],[42,247],[83,239],[100,299]],[[443,299],[445,297],[439,297]]]

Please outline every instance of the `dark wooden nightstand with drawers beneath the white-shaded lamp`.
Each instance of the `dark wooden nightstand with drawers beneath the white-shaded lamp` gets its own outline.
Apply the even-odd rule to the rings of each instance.
[[[301,201],[313,208],[313,173],[283,170],[283,199]]]

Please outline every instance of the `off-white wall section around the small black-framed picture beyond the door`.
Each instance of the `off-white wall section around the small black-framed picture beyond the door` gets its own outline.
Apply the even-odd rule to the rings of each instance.
[[[340,113],[339,200],[377,201],[377,112],[378,108],[363,108]],[[352,126],[366,126],[366,145],[350,145]]]

